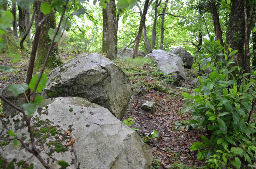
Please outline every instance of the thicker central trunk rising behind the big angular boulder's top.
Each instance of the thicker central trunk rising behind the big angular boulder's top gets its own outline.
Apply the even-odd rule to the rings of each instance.
[[[110,0],[106,6],[108,15],[108,38],[109,49],[106,57],[113,60],[117,57],[117,26],[116,26],[116,4],[115,0]]]

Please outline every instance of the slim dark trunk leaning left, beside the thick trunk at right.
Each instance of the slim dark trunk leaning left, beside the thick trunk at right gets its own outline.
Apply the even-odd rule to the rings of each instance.
[[[215,33],[215,40],[220,41],[220,44],[224,46],[223,44],[223,38],[222,38],[222,30],[221,25],[219,24],[219,15],[217,13],[215,1],[209,1],[210,10],[212,14],[212,20],[213,20],[213,26],[214,26],[214,33]]]

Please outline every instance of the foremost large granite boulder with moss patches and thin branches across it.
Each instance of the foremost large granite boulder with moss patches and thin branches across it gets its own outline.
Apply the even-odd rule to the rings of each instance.
[[[20,114],[4,120],[26,144],[30,142]],[[153,155],[140,136],[108,109],[84,98],[46,99],[31,122],[36,149],[52,169],[61,168],[60,165],[75,169],[78,163],[80,169],[150,169]],[[6,132],[0,125],[1,138],[10,138]],[[8,162],[16,159],[15,166],[25,163],[27,166],[33,164],[35,169],[44,169],[20,142],[18,146],[12,142],[0,143],[0,155]]]

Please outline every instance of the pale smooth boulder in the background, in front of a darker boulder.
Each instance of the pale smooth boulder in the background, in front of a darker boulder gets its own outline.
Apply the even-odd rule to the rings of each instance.
[[[182,81],[186,80],[184,64],[179,56],[158,49],[153,50],[152,53],[147,54],[145,57],[152,58],[152,60],[157,63],[159,70],[163,73],[172,74],[176,85],[179,85]]]

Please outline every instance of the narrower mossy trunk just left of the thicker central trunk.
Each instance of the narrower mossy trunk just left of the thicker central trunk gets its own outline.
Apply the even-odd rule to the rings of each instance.
[[[102,28],[102,48],[101,53],[108,52],[109,48],[109,38],[108,38],[108,15],[106,9],[102,8],[102,19],[103,19],[103,28]]]

